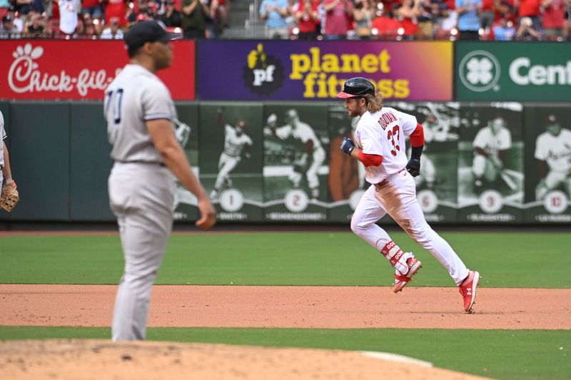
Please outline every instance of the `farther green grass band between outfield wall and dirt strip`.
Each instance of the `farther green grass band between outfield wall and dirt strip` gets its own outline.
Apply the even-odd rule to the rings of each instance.
[[[445,269],[403,232],[415,252],[414,286],[455,286]],[[485,287],[569,288],[571,234],[441,234]],[[0,240],[0,283],[117,284],[123,256],[116,235],[14,236]],[[173,235],[156,284],[388,286],[388,262],[350,232]]]

